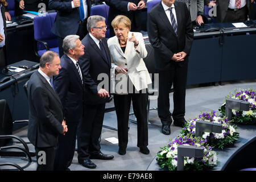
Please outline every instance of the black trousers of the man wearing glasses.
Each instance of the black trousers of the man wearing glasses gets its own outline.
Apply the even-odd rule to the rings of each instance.
[[[84,119],[77,131],[78,160],[90,159],[90,155],[100,153],[101,130],[105,113],[105,103],[84,105]]]

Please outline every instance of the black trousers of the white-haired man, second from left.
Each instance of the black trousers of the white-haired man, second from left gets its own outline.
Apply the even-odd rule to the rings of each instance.
[[[55,171],[65,171],[72,163],[76,147],[76,134],[78,122],[68,122],[68,132],[60,135],[59,142],[56,146],[56,154],[54,161]]]

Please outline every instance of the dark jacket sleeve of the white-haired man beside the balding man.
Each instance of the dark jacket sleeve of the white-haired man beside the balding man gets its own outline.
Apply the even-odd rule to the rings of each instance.
[[[63,109],[65,109],[69,85],[69,75],[67,69],[63,67],[60,69],[59,75],[55,76],[54,78],[53,85],[60,98],[61,104],[63,105]],[[63,114],[65,114],[65,111],[63,111]]]

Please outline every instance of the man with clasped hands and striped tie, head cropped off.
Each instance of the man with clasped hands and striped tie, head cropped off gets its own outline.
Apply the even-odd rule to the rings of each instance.
[[[188,55],[193,42],[193,29],[187,6],[175,0],[162,0],[147,16],[147,32],[155,49],[155,68],[159,71],[158,115],[163,134],[170,135],[172,123],[169,90],[174,84],[175,126],[185,123],[185,86]]]

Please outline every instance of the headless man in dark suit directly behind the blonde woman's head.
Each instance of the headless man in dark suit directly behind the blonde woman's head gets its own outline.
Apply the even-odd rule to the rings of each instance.
[[[143,0],[108,0],[109,5],[108,27],[110,28],[110,37],[115,36],[112,20],[117,15],[125,15],[131,20],[131,31],[141,31],[141,10],[145,7],[147,1]]]

